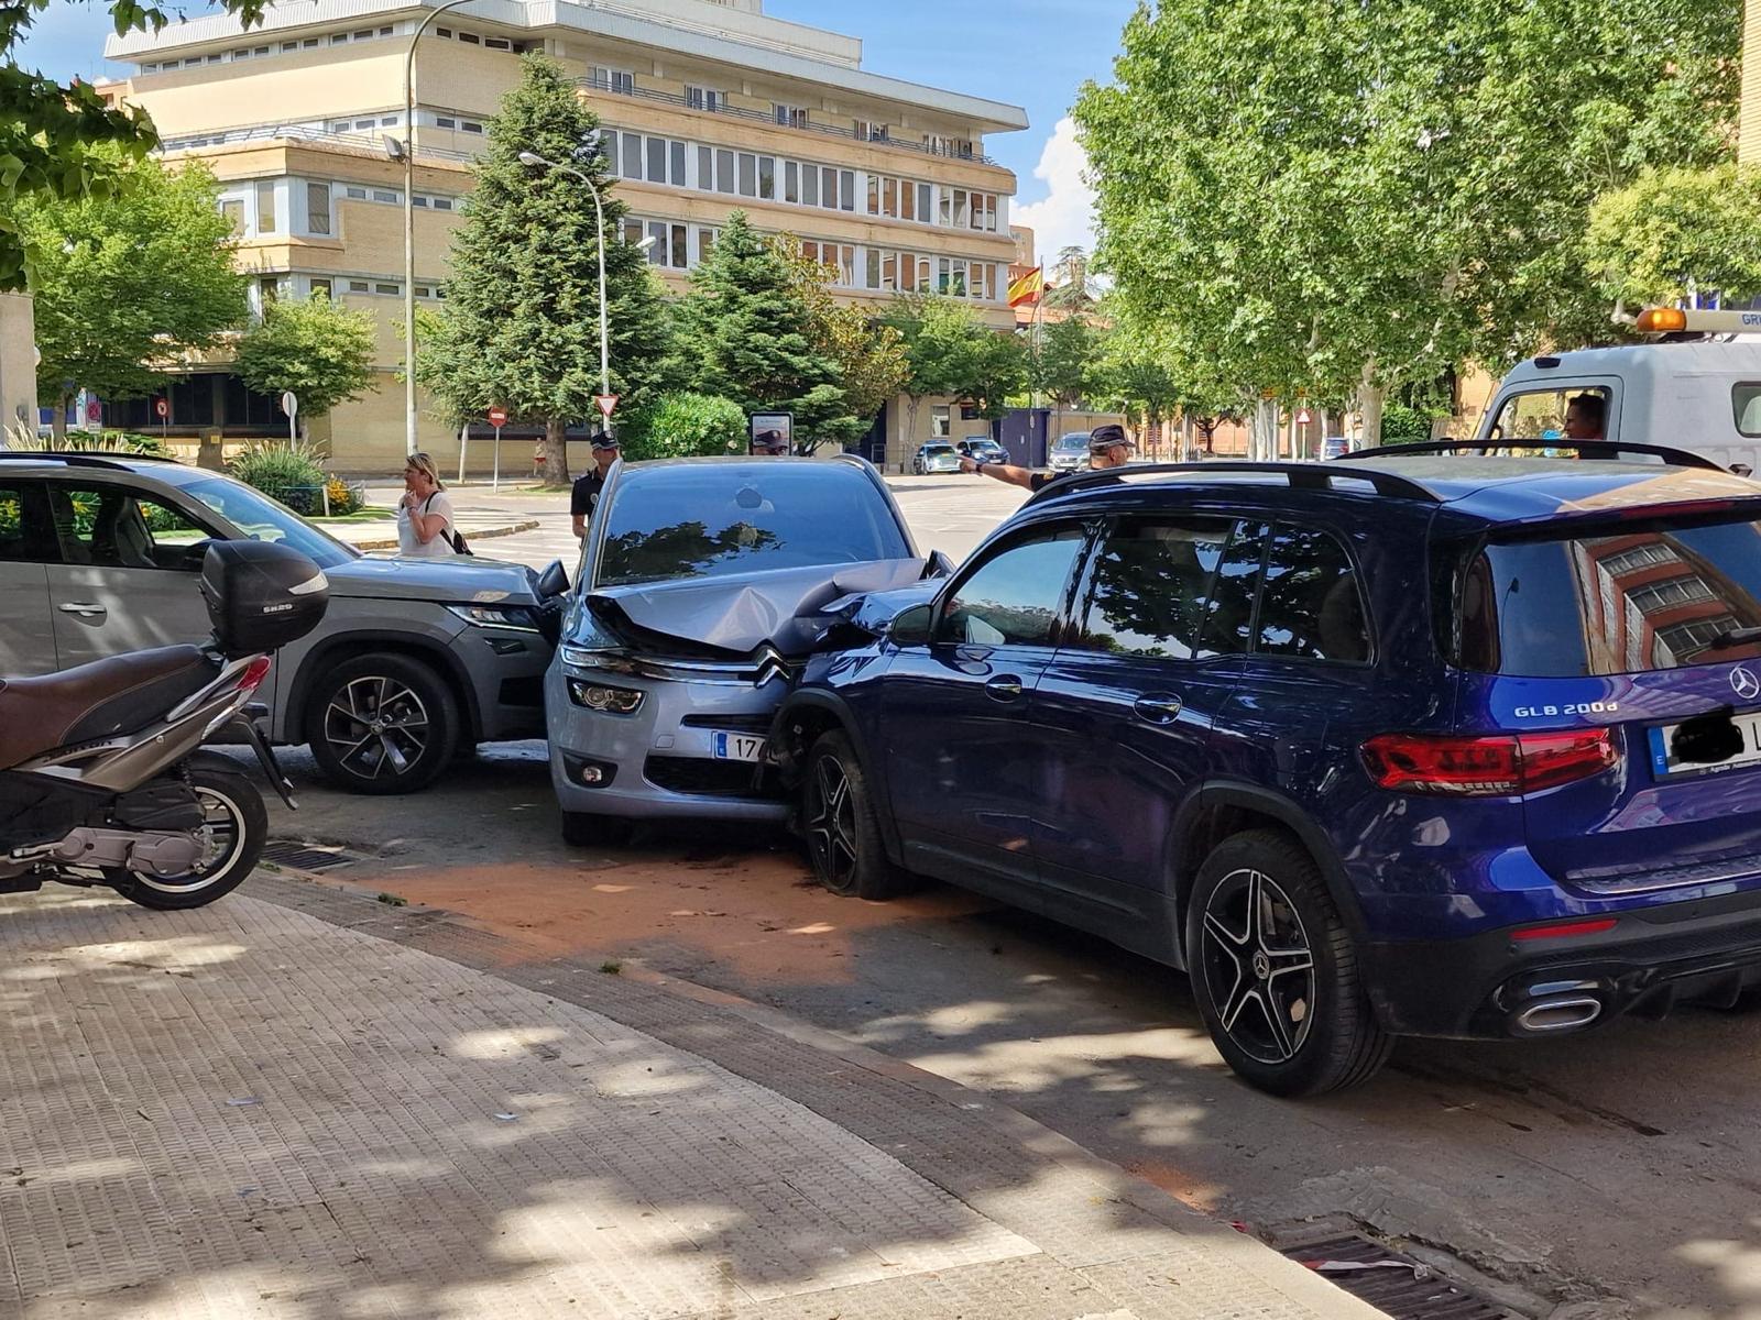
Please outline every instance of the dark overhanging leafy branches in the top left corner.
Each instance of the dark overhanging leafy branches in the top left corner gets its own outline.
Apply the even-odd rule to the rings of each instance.
[[[220,0],[247,25],[264,0]],[[56,83],[18,67],[14,51],[49,0],[0,5],[0,290],[23,289],[30,262],[18,227],[21,208],[102,201],[136,181],[129,164],[158,143],[146,114],[111,109],[86,83]],[[120,33],[166,25],[166,11],[141,0],[106,5]]]

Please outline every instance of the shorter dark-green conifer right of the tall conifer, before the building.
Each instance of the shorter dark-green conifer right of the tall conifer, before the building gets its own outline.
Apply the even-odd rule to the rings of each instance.
[[[808,451],[854,440],[866,422],[852,415],[840,364],[815,340],[814,310],[787,259],[734,211],[678,306],[676,352],[694,389],[747,414],[794,414]]]

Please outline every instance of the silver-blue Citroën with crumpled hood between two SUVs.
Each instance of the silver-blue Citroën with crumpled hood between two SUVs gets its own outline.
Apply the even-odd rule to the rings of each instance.
[[[766,736],[829,607],[946,570],[854,456],[618,463],[544,679],[564,838],[785,820]]]

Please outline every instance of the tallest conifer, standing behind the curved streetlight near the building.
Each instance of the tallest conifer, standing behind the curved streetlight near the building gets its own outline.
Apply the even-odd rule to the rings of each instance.
[[[599,121],[562,65],[521,58],[519,86],[490,121],[465,222],[453,234],[446,308],[423,324],[417,380],[449,419],[502,405],[516,421],[544,424],[544,479],[569,479],[569,422],[597,415],[599,259],[606,248],[611,392],[641,408],[659,380],[667,317],[648,260],[623,239],[625,208],[599,150]],[[562,169],[528,167],[521,151],[581,171],[593,197]]]

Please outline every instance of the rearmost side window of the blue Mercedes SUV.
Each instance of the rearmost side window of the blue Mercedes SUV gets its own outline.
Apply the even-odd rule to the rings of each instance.
[[[1293,526],[1273,532],[1254,649],[1349,664],[1370,658],[1358,574],[1337,537]]]

